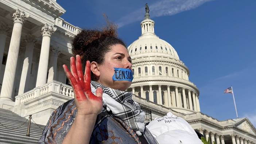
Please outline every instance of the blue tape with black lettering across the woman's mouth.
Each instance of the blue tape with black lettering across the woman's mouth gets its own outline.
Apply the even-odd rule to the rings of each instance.
[[[130,81],[133,79],[133,72],[131,69],[116,68],[112,77],[113,81]]]

